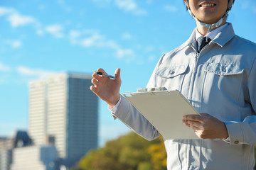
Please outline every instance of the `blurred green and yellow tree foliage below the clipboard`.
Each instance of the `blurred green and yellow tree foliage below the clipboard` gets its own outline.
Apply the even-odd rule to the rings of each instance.
[[[107,142],[105,147],[92,150],[73,169],[162,170],[164,168],[166,169],[166,152],[162,138],[147,141],[130,132],[117,140]]]

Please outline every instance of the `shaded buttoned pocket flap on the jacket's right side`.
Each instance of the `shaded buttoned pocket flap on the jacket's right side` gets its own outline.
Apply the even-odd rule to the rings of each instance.
[[[237,64],[225,64],[225,63],[208,63],[206,65],[206,72],[213,72],[220,76],[229,76],[235,74],[242,74],[244,71],[240,65]]]

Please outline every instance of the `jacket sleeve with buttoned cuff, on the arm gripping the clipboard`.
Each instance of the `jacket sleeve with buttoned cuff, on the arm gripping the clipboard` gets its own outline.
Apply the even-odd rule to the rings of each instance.
[[[255,59],[256,60],[256,59]],[[225,122],[228,129],[231,145],[256,144],[256,64],[252,64],[252,69],[247,81],[247,88],[250,96],[252,114],[245,117],[242,122]]]

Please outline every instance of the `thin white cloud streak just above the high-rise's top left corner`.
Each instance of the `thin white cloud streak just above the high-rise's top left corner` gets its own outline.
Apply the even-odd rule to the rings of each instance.
[[[55,72],[50,72],[43,69],[31,69],[23,66],[17,67],[17,72],[19,74],[22,74],[23,76],[33,76],[38,77],[40,79],[48,77],[51,74],[55,74]]]

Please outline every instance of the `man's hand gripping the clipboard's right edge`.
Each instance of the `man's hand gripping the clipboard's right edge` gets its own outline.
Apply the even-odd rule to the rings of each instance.
[[[228,138],[228,130],[225,123],[207,113],[200,115],[183,115],[182,122],[192,128],[201,139]]]

